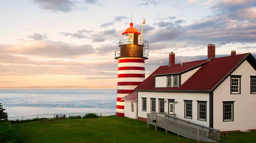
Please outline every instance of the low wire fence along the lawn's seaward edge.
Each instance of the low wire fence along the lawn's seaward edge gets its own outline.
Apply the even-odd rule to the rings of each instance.
[[[16,117],[8,117],[9,121],[12,120],[29,120],[29,119],[39,119],[39,118],[55,118],[55,115],[57,114],[65,114],[67,118],[71,116],[84,116],[89,113],[54,113],[54,114],[37,114],[37,115],[26,115],[26,116],[16,116]],[[98,116],[110,116],[110,115],[115,115],[115,112],[107,112],[107,113],[93,113],[97,114]]]

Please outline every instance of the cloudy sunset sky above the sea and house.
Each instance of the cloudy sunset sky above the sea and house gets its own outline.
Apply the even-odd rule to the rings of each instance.
[[[0,86],[115,86],[122,32],[131,22],[149,42],[146,77],[168,64],[251,52],[255,0],[0,1]]]

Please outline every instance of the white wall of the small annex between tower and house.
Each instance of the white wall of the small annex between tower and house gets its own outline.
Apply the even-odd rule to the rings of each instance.
[[[137,119],[137,101],[134,102],[134,112],[132,112],[132,101],[124,101],[124,116],[132,119]]]

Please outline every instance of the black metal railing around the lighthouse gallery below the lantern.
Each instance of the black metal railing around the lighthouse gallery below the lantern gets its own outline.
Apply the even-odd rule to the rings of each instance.
[[[119,41],[119,46],[127,44],[136,44],[143,46],[143,58],[148,59],[148,41],[147,40],[134,40],[134,39],[124,39]],[[138,51],[123,51],[123,57],[128,57],[129,55],[140,54]],[[115,58],[120,57],[120,51],[115,51]]]

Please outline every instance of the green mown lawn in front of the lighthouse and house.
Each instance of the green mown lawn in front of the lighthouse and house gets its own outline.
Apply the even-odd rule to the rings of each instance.
[[[165,133],[145,122],[106,116],[96,119],[51,119],[35,122],[15,123],[23,142],[197,142],[173,133]],[[222,142],[244,142],[237,139],[248,137],[255,142],[256,131],[250,133],[228,133]]]

